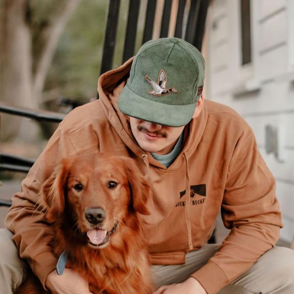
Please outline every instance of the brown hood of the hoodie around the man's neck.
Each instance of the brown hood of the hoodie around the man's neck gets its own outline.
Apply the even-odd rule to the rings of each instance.
[[[134,154],[140,158],[147,156],[149,164],[155,165],[163,170],[172,171],[182,164],[179,158],[182,157],[183,153],[185,153],[185,157],[188,159],[197,148],[205,130],[208,117],[206,106],[204,104],[200,115],[197,118],[193,118],[190,123],[186,125],[184,129],[182,151],[169,167],[165,167],[154,159],[149,152],[145,152],[140,148],[132,134],[129,117],[123,114],[117,106],[119,95],[130,76],[132,62],[133,58],[126,61],[119,68],[108,71],[99,77],[97,88],[99,99],[110,123],[115,128],[122,141]]]

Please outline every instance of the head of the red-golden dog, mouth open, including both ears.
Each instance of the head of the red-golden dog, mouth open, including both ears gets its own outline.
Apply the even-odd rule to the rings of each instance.
[[[126,218],[149,214],[151,190],[135,161],[99,153],[62,160],[42,194],[49,221],[59,220],[90,246],[103,248]]]

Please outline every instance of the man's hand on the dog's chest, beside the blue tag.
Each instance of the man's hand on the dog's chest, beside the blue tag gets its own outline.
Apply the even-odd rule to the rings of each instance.
[[[69,268],[60,276],[55,270],[51,271],[45,284],[52,294],[93,294],[88,282]]]

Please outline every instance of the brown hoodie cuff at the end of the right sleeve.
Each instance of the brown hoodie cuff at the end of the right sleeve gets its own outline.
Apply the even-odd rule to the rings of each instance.
[[[213,261],[208,261],[191,277],[195,278],[208,294],[215,294],[228,284],[228,279],[223,270]]]

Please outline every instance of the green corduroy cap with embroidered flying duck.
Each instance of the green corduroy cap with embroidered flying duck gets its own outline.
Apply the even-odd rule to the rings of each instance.
[[[180,127],[192,119],[204,85],[201,53],[178,38],[145,43],[135,56],[118,107],[142,120]]]

